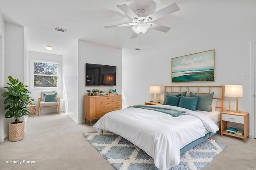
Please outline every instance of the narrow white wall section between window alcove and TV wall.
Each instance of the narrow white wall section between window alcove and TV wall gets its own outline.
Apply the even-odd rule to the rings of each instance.
[[[78,123],[78,40],[63,55],[62,62],[66,112]]]

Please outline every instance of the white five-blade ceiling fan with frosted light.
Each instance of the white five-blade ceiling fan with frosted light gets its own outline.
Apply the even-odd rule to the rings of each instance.
[[[110,25],[105,26],[104,28],[113,28],[113,27],[124,27],[124,26],[132,26],[132,30],[134,31],[132,33],[131,38],[136,38],[138,34],[145,33],[148,28],[155,29],[162,32],[167,32],[171,28],[166,27],[164,25],[159,25],[156,23],[152,23],[151,21],[157,20],[158,18],[162,18],[163,16],[166,16],[168,14],[171,14],[173,12],[176,12],[180,10],[180,8],[177,6],[177,4],[171,4],[169,6],[166,6],[165,8],[158,10],[157,12],[154,12],[153,14],[150,14],[147,16],[144,14],[144,9],[138,9],[136,12],[133,12],[129,6],[127,5],[117,5],[117,7],[122,10],[127,16],[129,16],[132,19],[132,23],[124,23],[120,25]]]

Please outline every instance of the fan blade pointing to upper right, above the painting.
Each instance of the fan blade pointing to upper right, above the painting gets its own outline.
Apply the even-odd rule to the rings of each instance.
[[[171,14],[171,13],[176,12],[178,10],[180,10],[180,8],[177,6],[176,3],[174,3],[174,4],[171,4],[169,6],[166,6],[162,10],[158,10],[157,12],[154,12],[153,14],[147,16],[146,20],[151,18],[150,21],[154,21],[154,20],[157,20],[158,18],[161,18],[163,16],[167,16],[168,14]]]

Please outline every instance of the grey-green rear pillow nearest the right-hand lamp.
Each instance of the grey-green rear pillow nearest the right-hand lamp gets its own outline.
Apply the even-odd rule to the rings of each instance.
[[[213,98],[214,92],[210,94],[197,94],[193,92],[189,92],[190,97],[199,97],[198,103],[197,103],[197,110],[202,111],[212,111],[212,98]]]

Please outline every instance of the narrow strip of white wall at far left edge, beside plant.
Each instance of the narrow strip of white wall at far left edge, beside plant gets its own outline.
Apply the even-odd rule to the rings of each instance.
[[[5,127],[5,118],[4,118],[4,108],[3,108],[3,97],[2,97],[2,90],[4,86],[4,20],[0,13],[0,143],[4,142],[4,138],[6,132],[4,131]]]

